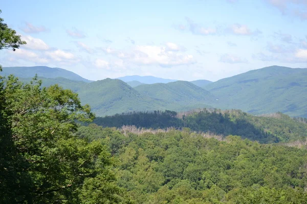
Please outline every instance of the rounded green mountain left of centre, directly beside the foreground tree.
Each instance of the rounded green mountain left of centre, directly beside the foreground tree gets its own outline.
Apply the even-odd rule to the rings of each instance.
[[[165,105],[161,100],[143,96],[121,80],[105,79],[88,83],[77,93],[82,104],[89,104],[97,116],[161,110]]]

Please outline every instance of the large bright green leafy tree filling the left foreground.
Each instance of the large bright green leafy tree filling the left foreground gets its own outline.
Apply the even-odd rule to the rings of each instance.
[[[0,203],[129,202],[107,148],[73,134],[94,118],[76,93],[12,75],[0,88]]]

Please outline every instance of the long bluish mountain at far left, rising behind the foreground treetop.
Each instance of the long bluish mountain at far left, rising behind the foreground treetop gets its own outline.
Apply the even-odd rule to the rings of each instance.
[[[66,78],[74,81],[91,82],[90,80],[80,77],[78,74],[62,68],[51,68],[46,66],[34,67],[3,67],[2,75],[14,74],[18,78],[33,78],[35,74],[43,78]]]

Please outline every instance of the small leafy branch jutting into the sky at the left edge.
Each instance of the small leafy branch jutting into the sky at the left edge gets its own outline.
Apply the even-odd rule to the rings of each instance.
[[[1,10],[0,10],[1,14]],[[20,35],[16,35],[16,31],[10,29],[6,23],[0,18],[0,49],[12,49],[15,51],[20,45],[26,44],[26,41],[21,40]],[[0,71],[2,67],[0,65]]]

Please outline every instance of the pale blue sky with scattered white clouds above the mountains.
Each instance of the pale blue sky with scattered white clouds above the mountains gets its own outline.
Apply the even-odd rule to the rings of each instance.
[[[3,66],[185,81],[307,68],[307,0],[11,0],[0,9],[27,42],[1,50]]]

